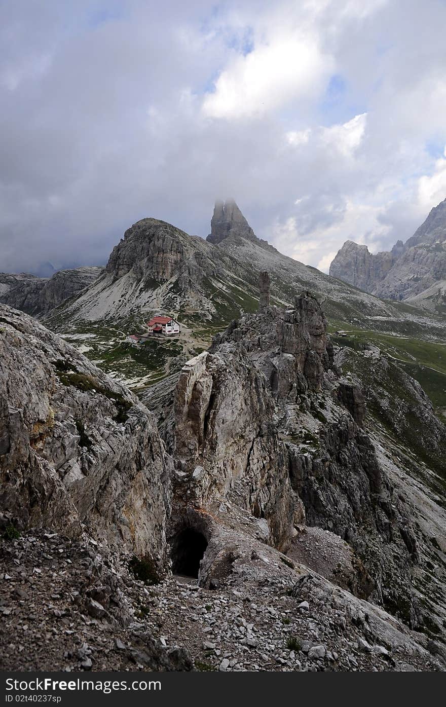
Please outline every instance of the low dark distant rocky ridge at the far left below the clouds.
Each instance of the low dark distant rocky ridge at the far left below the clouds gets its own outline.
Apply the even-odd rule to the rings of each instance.
[[[50,278],[0,273],[0,302],[32,315],[44,314],[88,287],[100,267],[59,270]]]

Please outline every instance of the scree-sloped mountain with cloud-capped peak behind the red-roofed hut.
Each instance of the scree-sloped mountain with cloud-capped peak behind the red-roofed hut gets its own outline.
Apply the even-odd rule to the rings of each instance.
[[[47,322],[56,328],[76,321],[123,322],[164,309],[186,323],[228,325],[241,311],[257,310],[264,270],[271,277],[272,303],[289,303],[304,288],[324,300],[332,317],[404,319],[392,304],[346,288],[257,238],[233,201],[217,202],[212,231],[203,240],[143,218],[115,246],[104,274]]]

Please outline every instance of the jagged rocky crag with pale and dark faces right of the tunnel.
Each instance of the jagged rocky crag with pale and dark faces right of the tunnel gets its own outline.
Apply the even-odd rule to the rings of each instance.
[[[418,626],[410,511],[363,430],[360,390],[339,380],[326,329],[305,294],[293,310],[245,315],[183,368],[174,498],[205,508],[227,498],[262,518],[282,550],[296,525],[334,532],[356,553],[351,587]]]

